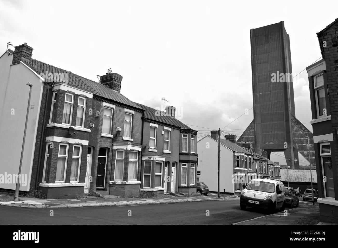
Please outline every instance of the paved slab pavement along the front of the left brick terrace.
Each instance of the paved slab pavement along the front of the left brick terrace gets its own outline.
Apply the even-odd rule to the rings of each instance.
[[[122,198],[119,196],[87,197],[86,199],[36,199],[19,196],[19,201],[13,201],[14,196],[10,193],[0,193],[0,205],[8,205],[22,208],[81,208],[93,206],[127,206],[127,205],[148,205],[148,204],[169,204],[177,202],[194,201],[217,201],[217,200],[236,200],[237,196],[222,195],[217,198],[211,196],[181,196],[175,197],[166,195],[165,197],[151,198]]]

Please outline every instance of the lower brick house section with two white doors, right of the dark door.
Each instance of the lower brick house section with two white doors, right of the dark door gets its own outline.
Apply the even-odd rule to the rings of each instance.
[[[197,131],[175,118],[175,107],[168,106],[163,112],[138,106],[145,110],[141,191],[195,195]]]

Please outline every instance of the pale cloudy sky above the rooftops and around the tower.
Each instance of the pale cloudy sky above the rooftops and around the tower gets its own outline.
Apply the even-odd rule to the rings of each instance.
[[[33,58],[94,81],[112,68],[122,94],[153,108],[166,98],[198,137],[218,128],[240,136],[253,119],[242,115],[252,107],[250,29],[284,21],[300,73],[296,117],[312,131],[305,68],[320,58],[316,32],[337,18],[338,3],[325,1],[325,15],[318,1],[283,3],[0,0],[0,48],[26,42]]]

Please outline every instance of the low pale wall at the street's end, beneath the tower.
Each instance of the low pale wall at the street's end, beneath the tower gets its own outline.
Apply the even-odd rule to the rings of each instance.
[[[289,173],[289,177],[288,177]],[[281,181],[283,182],[311,182],[310,170],[281,169]],[[312,182],[317,183],[317,171],[312,170]]]

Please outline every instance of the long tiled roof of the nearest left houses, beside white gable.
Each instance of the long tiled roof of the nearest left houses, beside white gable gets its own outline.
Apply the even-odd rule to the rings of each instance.
[[[27,64],[37,74],[41,74],[41,73],[45,74],[46,71],[48,73],[67,73],[67,77],[68,77],[67,83],[69,85],[72,85],[74,87],[77,87],[83,90],[90,91],[99,97],[113,100],[115,102],[122,103],[124,105],[134,107],[137,109],[142,109],[140,108],[140,106],[136,105],[134,102],[130,101],[128,98],[126,98],[124,95],[117,92],[116,90],[113,90],[103,84],[97,83],[90,79],[76,75],[70,71],[55,67],[53,65],[41,62],[36,59],[31,59],[30,62],[25,62],[25,64]]]

